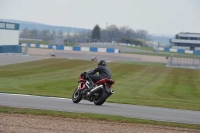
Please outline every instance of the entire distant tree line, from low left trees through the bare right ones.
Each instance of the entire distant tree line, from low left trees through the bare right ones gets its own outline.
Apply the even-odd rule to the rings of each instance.
[[[79,33],[63,33],[63,31],[36,30],[25,28],[20,33],[21,38],[51,40],[55,37],[62,37],[66,42],[122,42],[136,45],[144,45],[146,40],[150,40],[148,31],[143,29],[133,30],[128,26],[117,27],[109,25],[101,29],[96,25],[91,31]]]

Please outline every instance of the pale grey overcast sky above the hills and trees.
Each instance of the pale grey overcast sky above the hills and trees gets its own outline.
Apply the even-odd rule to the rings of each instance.
[[[0,18],[88,29],[115,24],[150,34],[200,33],[200,0],[0,0]]]

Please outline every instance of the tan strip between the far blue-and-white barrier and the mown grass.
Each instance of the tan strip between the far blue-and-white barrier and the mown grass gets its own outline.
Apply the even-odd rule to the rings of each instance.
[[[167,63],[166,58],[161,56],[29,48],[29,55],[31,56],[50,57],[52,52],[56,55],[56,58],[91,60],[92,57],[97,57],[97,59],[105,59],[107,61]]]

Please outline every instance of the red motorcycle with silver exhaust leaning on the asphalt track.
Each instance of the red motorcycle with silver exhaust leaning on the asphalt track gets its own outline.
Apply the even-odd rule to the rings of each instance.
[[[90,72],[91,70],[88,70],[79,76],[79,85],[72,95],[72,101],[79,103],[82,99],[86,99],[94,102],[95,105],[102,105],[108,97],[114,94],[114,90],[111,88],[115,81],[104,78],[96,83],[91,83],[88,75]]]

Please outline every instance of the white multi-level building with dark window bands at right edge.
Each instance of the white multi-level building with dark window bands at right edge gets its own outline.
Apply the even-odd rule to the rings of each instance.
[[[177,49],[200,50],[200,33],[181,32],[170,40]]]

